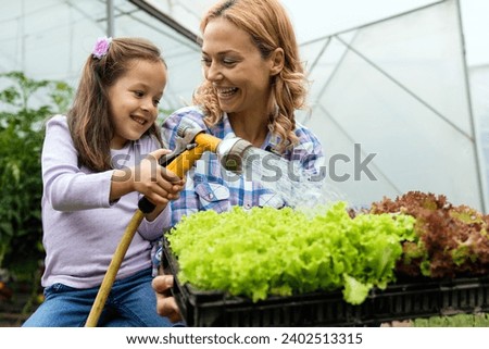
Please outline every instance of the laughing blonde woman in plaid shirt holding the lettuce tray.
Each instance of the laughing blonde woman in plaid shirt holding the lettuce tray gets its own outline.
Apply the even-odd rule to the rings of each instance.
[[[196,107],[184,108],[163,124],[163,138],[175,149],[176,130],[189,119],[218,138],[240,137],[298,165],[314,176],[323,160],[317,138],[294,120],[304,107],[306,79],[296,35],[277,0],[217,2],[201,22],[204,83],[193,96]],[[288,175],[281,173],[281,175]],[[215,154],[206,153],[188,172],[178,200],[172,202],[172,225],[200,210],[226,211],[233,205],[288,204],[279,192],[255,178],[229,180]],[[166,297],[173,276],[154,278],[158,312],[172,321],[180,314]]]

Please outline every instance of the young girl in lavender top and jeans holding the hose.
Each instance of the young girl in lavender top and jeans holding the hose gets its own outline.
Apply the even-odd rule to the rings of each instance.
[[[24,326],[84,326],[138,201],[146,215],[118,270],[98,326],[170,326],[155,312],[151,249],[184,182],[166,173],[155,125],[166,84],[160,50],[138,38],[101,38],[86,61],[73,108],[47,123],[42,149],[45,302]]]

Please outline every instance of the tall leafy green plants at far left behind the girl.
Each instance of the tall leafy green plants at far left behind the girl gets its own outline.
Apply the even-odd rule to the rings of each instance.
[[[73,89],[23,72],[0,74],[0,269],[16,281],[36,279],[41,245],[43,122],[64,112]],[[34,105],[34,107],[33,107]]]

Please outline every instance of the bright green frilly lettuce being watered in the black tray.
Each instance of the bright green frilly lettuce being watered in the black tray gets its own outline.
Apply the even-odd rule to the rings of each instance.
[[[373,287],[394,281],[401,241],[414,239],[414,217],[359,214],[339,201],[313,217],[290,208],[239,207],[198,212],[167,236],[178,278],[203,290],[253,301],[316,290],[343,291],[362,303]]]

